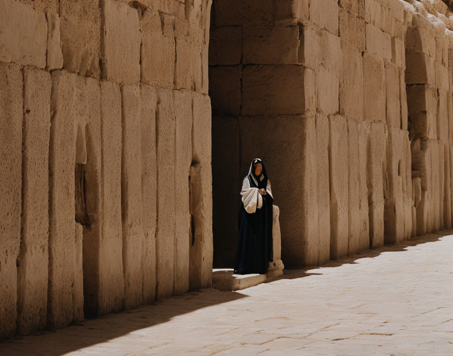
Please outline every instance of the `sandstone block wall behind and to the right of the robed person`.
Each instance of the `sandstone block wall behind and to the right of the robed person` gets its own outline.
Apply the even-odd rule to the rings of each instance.
[[[214,265],[234,264],[238,193],[255,156],[273,182],[288,267],[449,228],[447,6],[235,6],[217,0],[211,14]]]

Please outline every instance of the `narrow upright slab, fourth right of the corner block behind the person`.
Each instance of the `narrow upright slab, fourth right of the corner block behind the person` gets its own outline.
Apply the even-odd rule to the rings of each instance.
[[[360,251],[370,248],[370,220],[368,210],[368,145],[370,129],[365,121],[357,121],[358,136],[358,195],[360,219]]]

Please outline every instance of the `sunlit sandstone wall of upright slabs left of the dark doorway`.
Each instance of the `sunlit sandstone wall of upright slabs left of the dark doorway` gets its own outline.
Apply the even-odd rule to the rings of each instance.
[[[0,0],[0,337],[211,285],[209,16]]]

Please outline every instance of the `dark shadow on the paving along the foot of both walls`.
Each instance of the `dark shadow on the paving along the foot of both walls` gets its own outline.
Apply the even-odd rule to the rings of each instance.
[[[441,237],[448,235],[453,235],[453,231],[441,231],[417,237],[413,240],[401,241],[394,245],[386,245],[378,249],[329,261],[322,266],[286,270],[283,276],[274,281],[322,275],[323,268],[335,268],[344,264],[359,263],[357,260],[361,258],[374,258],[382,253],[405,251],[409,246],[435,242]],[[197,312],[197,310],[248,297],[247,294],[243,293],[244,291],[237,293],[214,289],[186,293],[122,313],[86,320],[79,325],[71,325],[54,332],[46,331],[39,335],[17,337],[15,340],[4,341],[0,343],[0,355],[60,356],[77,350],[80,350],[80,354],[83,354],[81,349],[85,347],[105,343],[112,339],[117,339],[118,342],[121,342],[120,339],[126,337],[126,335],[130,342],[130,338],[133,338],[134,335],[135,337],[141,336],[141,330],[144,328],[166,323],[173,318],[190,318],[187,314]],[[147,347],[158,347],[162,344],[165,344],[162,340],[147,340]],[[112,348],[111,351],[109,353],[116,354],[115,351],[117,350]],[[133,354],[132,349],[130,352]]]

